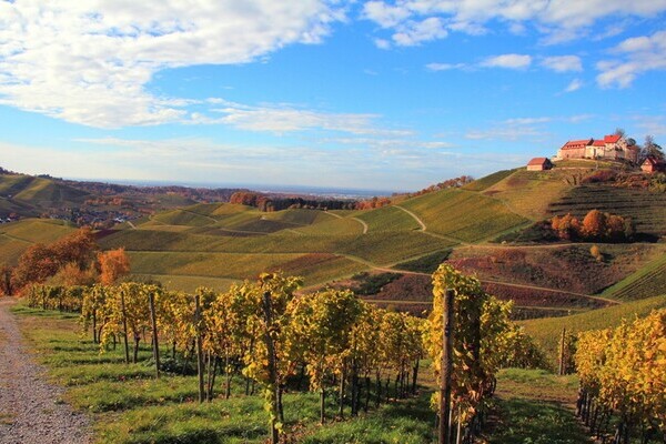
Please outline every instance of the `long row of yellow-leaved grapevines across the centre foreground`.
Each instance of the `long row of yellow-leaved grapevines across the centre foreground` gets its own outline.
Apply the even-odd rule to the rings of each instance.
[[[457,424],[452,430],[457,430],[462,442],[471,442],[485,421],[500,367],[534,365],[538,355],[528,337],[508,321],[509,304],[488,296],[478,281],[444,265],[433,279],[435,303],[428,320],[377,309],[350,291],[296,295],[300,279],[274,273],[232,285],[224,293],[205,289],[176,293],[138,283],[34,285],[27,301],[33,309],[80,312],[89,343],[99,349],[97,359],[79,357],[80,364],[97,370],[62,369],[69,374],[68,384],[88,385],[73,389],[74,398],[85,398],[78,392],[100,389],[114,374],[127,375],[118,370],[109,373],[104,364],[119,359],[133,372],[130,386],[151,375],[155,379],[151,383],[155,393],[142,390],[129,398],[109,393],[90,404],[93,411],[134,404],[154,404],[160,410],[165,402],[193,397],[215,405],[263,394],[270,435],[278,442],[280,434],[301,433],[289,408],[307,387],[319,395],[320,423],[422,396],[420,364],[426,357],[433,360],[438,379],[442,297],[444,289],[455,289],[451,421]],[[145,359],[152,370],[138,364]],[[198,374],[195,385],[186,380],[190,372]],[[81,380],[83,374],[92,380]],[[256,401],[248,402],[255,405]],[[228,431],[215,433],[226,436]]]

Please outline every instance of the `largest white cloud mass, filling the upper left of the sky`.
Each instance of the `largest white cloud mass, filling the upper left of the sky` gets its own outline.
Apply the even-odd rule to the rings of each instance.
[[[317,43],[341,18],[324,0],[0,1],[0,103],[102,128],[186,121],[186,101],[147,90],[158,71]]]

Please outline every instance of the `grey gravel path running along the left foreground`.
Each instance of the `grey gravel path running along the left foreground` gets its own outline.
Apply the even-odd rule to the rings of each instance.
[[[61,401],[62,389],[46,382],[14,316],[13,300],[0,297],[0,444],[84,444],[88,418]]]

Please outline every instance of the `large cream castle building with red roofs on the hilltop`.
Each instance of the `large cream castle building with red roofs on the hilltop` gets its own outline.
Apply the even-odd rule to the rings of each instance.
[[[604,139],[597,140],[569,140],[557,152],[557,159],[624,160],[636,163],[638,147],[629,147],[627,140],[619,134],[604,135]]]

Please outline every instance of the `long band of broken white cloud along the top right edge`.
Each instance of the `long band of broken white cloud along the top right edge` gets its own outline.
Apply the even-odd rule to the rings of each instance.
[[[666,11],[666,0],[386,0],[370,1],[363,16],[400,33],[410,21],[438,18],[445,29],[468,34],[485,32],[485,24],[498,20],[512,33],[522,33],[526,24],[539,30],[545,41],[555,43],[588,34],[601,19],[652,18]],[[618,24],[606,26],[617,32]],[[599,34],[595,30],[595,34]],[[604,32],[602,32],[604,34]],[[445,38],[442,33],[438,38]]]

